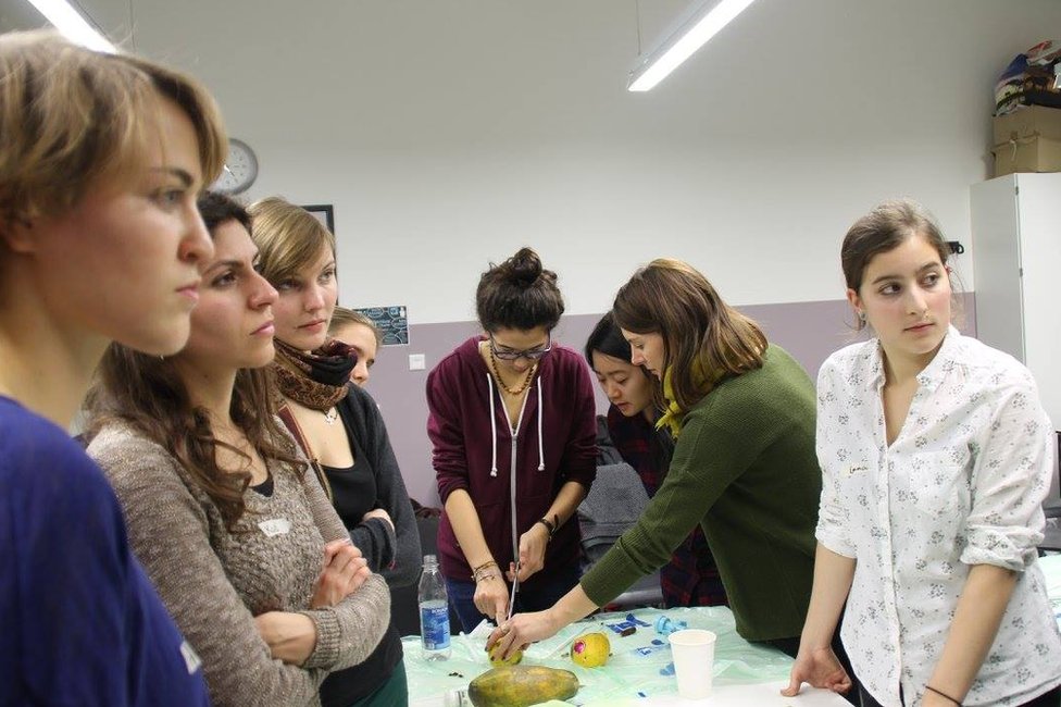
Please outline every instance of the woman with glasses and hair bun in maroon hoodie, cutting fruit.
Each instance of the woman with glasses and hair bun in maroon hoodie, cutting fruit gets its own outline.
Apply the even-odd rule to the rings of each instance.
[[[592,383],[554,346],[563,313],[556,273],[523,248],[479,280],[485,336],[427,377],[427,434],[445,506],[438,553],[465,631],[548,608],[578,582],[578,524],[567,521],[596,475]]]

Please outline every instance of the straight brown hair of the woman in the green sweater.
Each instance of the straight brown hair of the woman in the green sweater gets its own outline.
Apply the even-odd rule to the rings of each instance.
[[[660,258],[634,273],[615,295],[615,323],[635,334],[663,337],[674,402],[688,410],[727,375],[762,367],[766,336],[726,305],[708,278],[681,260]],[[707,380],[698,384],[694,364]]]

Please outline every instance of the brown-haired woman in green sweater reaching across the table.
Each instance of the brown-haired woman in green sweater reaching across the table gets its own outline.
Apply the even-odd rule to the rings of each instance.
[[[556,634],[665,565],[699,524],[737,632],[795,656],[822,488],[810,379],[684,262],[637,271],[614,313],[632,362],[663,382],[658,424],[675,437],[670,469],[637,524],[578,586],[550,609],[513,617],[490,644],[508,652]]]

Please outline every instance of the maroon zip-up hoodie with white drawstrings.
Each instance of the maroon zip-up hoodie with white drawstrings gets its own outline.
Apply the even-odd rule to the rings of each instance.
[[[442,504],[453,491],[467,491],[490,554],[503,571],[513,561],[512,427],[497,384],[479,356],[480,340],[464,342],[427,376],[427,435],[434,445],[432,463]],[[586,362],[575,351],[553,346],[539,362],[527,390],[516,438],[516,538],[546,514],[564,483],[577,481],[589,488],[597,475],[595,415]],[[557,570],[577,562],[579,539],[578,521],[572,517],[549,542],[545,568],[522,586],[534,591]],[[438,555],[444,575],[472,580],[472,569],[445,512],[438,529]]]

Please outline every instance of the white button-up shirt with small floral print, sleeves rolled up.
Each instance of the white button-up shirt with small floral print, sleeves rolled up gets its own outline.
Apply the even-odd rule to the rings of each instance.
[[[817,539],[856,558],[841,637],[886,707],[921,704],[970,566],[1020,573],[965,705],[1019,705],[1061,683],[1061,635],[1036,563],[1054,433],[1013,358],[950,328],[891,446],[876,339],[817,381]]]

